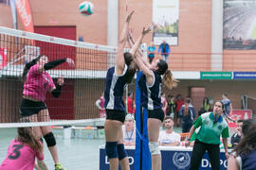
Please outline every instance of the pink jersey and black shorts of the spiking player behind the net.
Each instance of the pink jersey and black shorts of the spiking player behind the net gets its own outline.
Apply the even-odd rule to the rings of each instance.
[[[26,98],[22,99],[20,106],[21,117],[37,114],[40,110],[46,110],[46,92],[55,88],[52,78],[46,71],[39,71],[39,65],[33,65],[24,84],[23,95],[30,96],[38,101]]]

